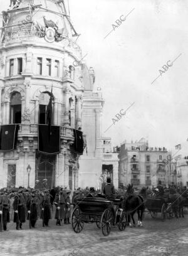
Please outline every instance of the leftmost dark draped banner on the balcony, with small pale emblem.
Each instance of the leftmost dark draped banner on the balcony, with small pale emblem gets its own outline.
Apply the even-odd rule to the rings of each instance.
[[[9,151],[16,148],[19,125],[8,124],[0,127],[0,150]]]

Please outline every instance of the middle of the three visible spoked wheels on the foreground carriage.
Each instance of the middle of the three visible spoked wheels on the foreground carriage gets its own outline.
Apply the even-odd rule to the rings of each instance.
[[[112,210],[106,209],[103,212],[100,226],[102,229],[103,235],[109,235],[110,234],[110,227],[113,225],[113,213]]]

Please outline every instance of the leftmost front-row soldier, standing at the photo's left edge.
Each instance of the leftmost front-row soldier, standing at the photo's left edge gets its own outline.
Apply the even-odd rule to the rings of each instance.
[[[8,190],[4,189],[3,196],[0,199],[0,214],[1,220],[3,219],[3,229],[6,230],[6,225],[10,221],[9,216],[10,201],[8,198]]]

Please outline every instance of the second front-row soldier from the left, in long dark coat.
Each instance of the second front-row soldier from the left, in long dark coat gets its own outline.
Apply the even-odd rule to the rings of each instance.
[[[14,197],[14,222],[16,222],[16,229],[22,228],[22,223],[26,221],[25,216],[25,201],[23,197],[23,189],[18,190],[17,195]]]

